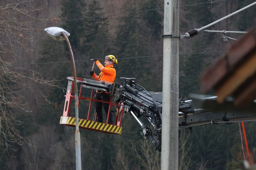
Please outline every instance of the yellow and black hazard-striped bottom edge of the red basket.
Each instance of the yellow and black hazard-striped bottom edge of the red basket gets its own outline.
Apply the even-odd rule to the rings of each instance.
[[[60,117],[60,124],[74,126],[75,127],[75,118],[74,117]],[[105,124],[100,122],[94,122],[91,120],[81,119],[79,118],[79,127],[88,130],[100,131],[104,133],[114,133],[114,134],[121,134],[122,127],[115,126],[112,124]]]

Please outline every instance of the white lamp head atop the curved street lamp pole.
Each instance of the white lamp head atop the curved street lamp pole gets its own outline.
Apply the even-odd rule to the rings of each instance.
[[[55,39],[57,41],[65,40],[65,38],[62,36],[62,32],[65,33],[67,35],[67,37],[70,36],[70,33],[68,33],[68,31],[65,31],[63,28],[59,28],[59,27],[45,28],[45,31],[48,35],[50,35],[50,37],[52,37],[53,39]]]

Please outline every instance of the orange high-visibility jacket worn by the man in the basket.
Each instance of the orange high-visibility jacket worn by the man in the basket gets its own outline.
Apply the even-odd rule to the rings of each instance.
[[[100,74],[97,76],[95,73],[92,75],[92,78],[96,81],[105,81],[106,83],[114,83],[115,81],[115,76],[116,76],[116,71],[113,65],[107,65],[103,66],[100,61],[95,62],[96,65],[100,69]]]

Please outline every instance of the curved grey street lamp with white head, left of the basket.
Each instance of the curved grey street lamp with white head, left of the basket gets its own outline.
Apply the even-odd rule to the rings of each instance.
[[[75,71],[75,61],[73,52],[71,49],[70,42],[68,41],[68,37],[70,33],[65,31],[59,27],[49,27],[45,28],[46,33],[51,36],[53,39],[57,41],[64,41],[66,40],[68,44],[68,50],[70,52],[70,58],[72,61],[72,70],[73,70],[73,78],[74,78],[74,88],[75,88],[75,163],[76,163],[76,170],[81,170],[81,144],[80,144],[80,132],[78,127],[78,93],[77,93],[77,78],[76,78],[76,71]]]

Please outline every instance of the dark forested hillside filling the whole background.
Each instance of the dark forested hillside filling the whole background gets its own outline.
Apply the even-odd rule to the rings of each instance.
[[[189,30],[201,28],[252,2],[254,1],[180,0],[179,32],[184,35]],[[12,3],[8,0],[0,2],[1,46],[8,42],[8,37],[5,36],[8,33],[5,30],[7,27],[1,25],[9,14],[9,11],[2,12],[8,10],[7,4]],[[163,34],[164,0],[41,0],[13,6],[32,10],[22,17],[19,17],[19,13],[15,14],[16,18],[13,20],[26,21],[23,23],[25,26],[17,26],[19,31],[12,32],[20,37],[17,41],[21,43],[19,46],[15,43],[17,48],[9,52],[1,47],[0,57],[5,62],[0,63],[10,70],[26,75],[27,78],[17,82],[8,79],[9,76],[2,76],[7,79],[4,85],[8,85],[13,92],[10,96],[19,97],[19,107],[1,102],[1,111],[17,120],[13,124],[13,133],[21,135],[18,136],[21,141],[15,140],[16,136],[10,137],[13,136],[12,131],[6,134],[7,137],[4,135],[4,131],[9,132],[9,122],[2,121],[6,120],[5,114],[0,115],[0,169],[73,170],[75,128],[59,125],[68,83],[66,77],[72,76],[70,54],[66,43],[48,37],[43,31],[44,28],[58,26],[70,33],[77,77],[90,78],[91,58],[103,61],[105,55],[112,54],[118,59],[118,64],[115,65],[115,82],[122,83],[120,77],[136,78],[136,82],[147,91],[160,92],[163,40],[159,35]],[[250,7],[207,29],[247,31],[255,24],[255,10],[255,6]],[[28,32],[26,29],[31,30]],[[228,36],[239,39],[242,35]],[[26,44],[21,37],[26,37],[30,43]],[[201,94],[200,74],[218,57],[224,55],[233,42],[222,41],[221,33],[205,32],[180,40],[180,96],[182,93],[186,98],[190,93]],[[40,74],[40,81],[36,78],[33,81],[29,79],[34,77],[35,72]],[[1,82],[0,85],[2,87]],[[3,93],[9,95],[8,92]],[[90,94],[90,91],[87,93]],[[213,95],[212,92],[209,94]],[[70,112],[74,114],[73,107]],[[81,102],[79,115],[83,116],[87,112],[88,104]],[[253,159],[256,147],[254,125],[254,122],[245,123]],[[139,129],[140,126],[128,114],[122,120],[122,135],[81,129],[83,169],[159,170],[161,153],[154,151],[151,142],[141,136]],[[192,133],[188,129],[182,129],[179,139],[179,169],[238,168],[239,162],[244,160],[245,150],[239,130],[238,123],[193,127]]]

